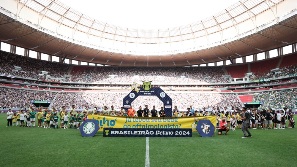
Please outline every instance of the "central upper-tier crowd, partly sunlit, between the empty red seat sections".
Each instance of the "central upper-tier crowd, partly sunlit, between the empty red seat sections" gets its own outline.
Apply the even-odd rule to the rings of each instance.
[[[81,74],[80,74],[81,73]],[[153,81],[154,83],[229,83],[224,78],[222,67],[97,67],[91,78],[85,71],[78,71],[70,82],[130,83],[132,81]],[[214,75],[215,74],[215,75]],[[116,75],[110,78],[110,75]],[[139,77],[133,77],[139,76]],[[157,76],[162,76],[158,78]],[[185,76],[181,78],[180,76]]]

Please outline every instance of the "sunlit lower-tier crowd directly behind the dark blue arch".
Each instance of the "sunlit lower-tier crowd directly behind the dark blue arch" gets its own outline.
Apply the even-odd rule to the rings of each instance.
[[[56,106],[65,105],[67,108],[72,104],[76,104],[77,108],[90,108],[98,107],[103,109],[104,106],[114,105],[116,109],[123,106],[123,98],[127,96],[127,93],[59,93],[55,100]],[[177,105],[178,108],[186,110],[187,106],[193,105],[195,109],[207,107],[212,109],[212,106],[239,106],[236,95],[234,94],[203,94],[203,93],[170,93],[168,94],[172,99],[172,104]],[[144,105],[146,103],[150,108],[156,106],[160,108],[163,106],[162,101],[156,96],[139,96],[132,104]]]

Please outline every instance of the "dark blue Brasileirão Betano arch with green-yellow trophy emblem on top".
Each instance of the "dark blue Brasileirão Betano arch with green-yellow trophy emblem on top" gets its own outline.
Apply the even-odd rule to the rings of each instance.
[[[172,100],[171,98],[159,87],[152,87],[151,81],[143,81],[142,87],[138,83],[133,82],[131,84],[131,92],[123,98],[123,107],[125,110],[128,110],[132,102],[138,96],[157,96],[162,102],[165,110],[165,117],[172,117]],[[146,104],[146,101],[143,101],[143,105]]]

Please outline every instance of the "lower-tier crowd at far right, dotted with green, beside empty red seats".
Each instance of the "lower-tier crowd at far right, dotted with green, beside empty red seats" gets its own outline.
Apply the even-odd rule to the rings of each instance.
[[[253,101],[263,102],[259,108],[272,107],[274,109],[282,109],[287,106],[289,108],[296,109],[297,89],[255,93]]]

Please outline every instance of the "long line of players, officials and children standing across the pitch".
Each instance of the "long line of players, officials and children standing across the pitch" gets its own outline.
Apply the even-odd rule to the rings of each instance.
[[[198,110],[194,111],[194,109],[192,108],[192,106],[190,106],[187,110],[187,112],[180,112],[178,109],[177,109],[177,106],[174,107],[175,109],[173,110],[173,116],[175,117],[179,117],[179,116],[208,116],[208,111],[206,111],[206,108],[203,108],[203,110],[200,111],[200,113],[198,113]],[[57,109],[55,108],[55,106],[53,106],[53,109],[51,110],[52,114],[53,114],[53,117],[55,117],[55,114],[56,114],[56,111]],[[261,112],[258,112],[256,108],[252,109],[252,108],[249,108],[248,112],[251,113],[251,127],[252,128],[259,128],[260,125],[263,124],[263,129],[267,129],[267,128],[272,128],[271,127],[271,124],[272,124],[272,121],[273,121],[273,125],[274,125],[274,129],[277,129],[277,128],[281,128],[280,126],[278,126],[277,122],[278,121],[281,121],[279,122],[279,124],[281,124],[283,127],[285,127],[285,123],[287,122],[287,120],[290,120],[289,122],[289,127],[291,126],[292,128],[294,128],[294,119],[292,117],[292,110],[289,109],[289,112],[287,114],[287,108],[285,107],[284,108],[284,111],[279,111],[280,113],[277,114],[277,112],[275,112],[274,110],[272,109],[269,109],[267,112],[265,109],[263,109]],[[24,114],[27,118],[27,121],[28,121],[28,118],[30,119],[30,125],[33,125],[33,127],[35,127],[35,110],[33,109],[33,106],[30,105],[30,108],[28,109],[29,114]],[[50,117],[47,117],[46,114],[47,114],[48,111],[46,111],[45,109],[43,109],[43,106],[41,106],[41,108],[39,109],[39,112],[37,113],[37,116],[38,116],[38,127],[41,126],[41,123],[42,122],[45,122],[47,123],[47,121],[50,121],[50,120],[46,120],[46,118],[50,119]],[[44,119],[42,119],[42,114],[39,114],[39,113],[42,113],[44,114]],[[150,113],[150,114],[149,114]],[[230,113],[230,114],[229,114]],[[217,109],[214,107],[212,112],[211,112],[211,115],[216,115],[219,119],[223,119],[225,118],[227,123],[228,123],[228,127],[229,128],[232,128],[232,126],[230,125],[230,122],[232,123],[232,121],[235,121],[236,120],[236,126],[238,128],[240,128],[240,124],[241,124],[241,119],[240,119],[240,115],[235,115],[235,114],[240,114],[241,113],[241,110],[238,109],[238,107],[236,107],[236,109],[234,109],[234,106],[231,107],[231,110],[228,111],[227,110],[227,107],[224,107],[224,110],[223,111],[220,111],[219,107],[217,107]],[[67,115],[67,111],[66,111],[66,107],[63,106],[62,109],[60,110],[60,117],[61,117],[61,123],[60,123],[60,127],[63,127],[63,124],[64,124],[64,115]],[[145,105],[145,109],[142,110],[142,107],[140,106],[139,107],[139,110],[137,111],[137,114],[135,115],[135,110],[132,109],[132,106],[130,106],[130,108],[128,109],[128,111],[125,111],[123,109],[123,107],[121,107],[121,110],[119,113],[116,112],[116,110],[114,109],[114,106],[111,106],[111,110],[107,110],[107,107],[105,106],[104,107],[104,110],[101,112],[97,111],[96,107],[91,111],[89,110],[88,107],[86,107],[86,110],[84,110],[84,114],[81,115],[80,114],[80,111],[77,113],[77,115],[75,114],[75,105],[72,105],[72,109],[70,110],[70,116],[77,116],[78,117],[78,120],[81,121],[81,119],[83,118],[87,118],[87,115],[88,114],[100,114],[100,115],[111,115],[111,116],[138,116],[138,117],[158,117],[158,112],[157,110],[155,109],[155,106],[153,107],[153,109],[151,110],[151,112],[149,111],[148,109],[148,106]],[[19,113],[16,115],[16,125],[19,125],[21,121],[20,117],[21,117],[21,110],[19,110]],[[163,107],[161,107],[161,110],[159,111],[159,116],[160,117],[165,117],[166,116],[166,113],[163,109]],[[58,117],[56,118],[56,120],[58,119]],[[43,120],[43,121],[42,121]],[[25,121],[25,120],[23,120]],[[68,119],[67,119],[68,121]],[[14,122],[15,122],[15,116],[14,116]],[[54,122],[54,118],[53,118],[53,122]],[[9,122],[8,122],[9,123]],[[8,124],[7,123],[7,124]],[[79,127],[80,123],[78,123],[78,127]],[[266,126],[267,125],[267,126]],[[8,126],[8,125],[7,125]],[[267,128],[266,128],[267,127]]]

